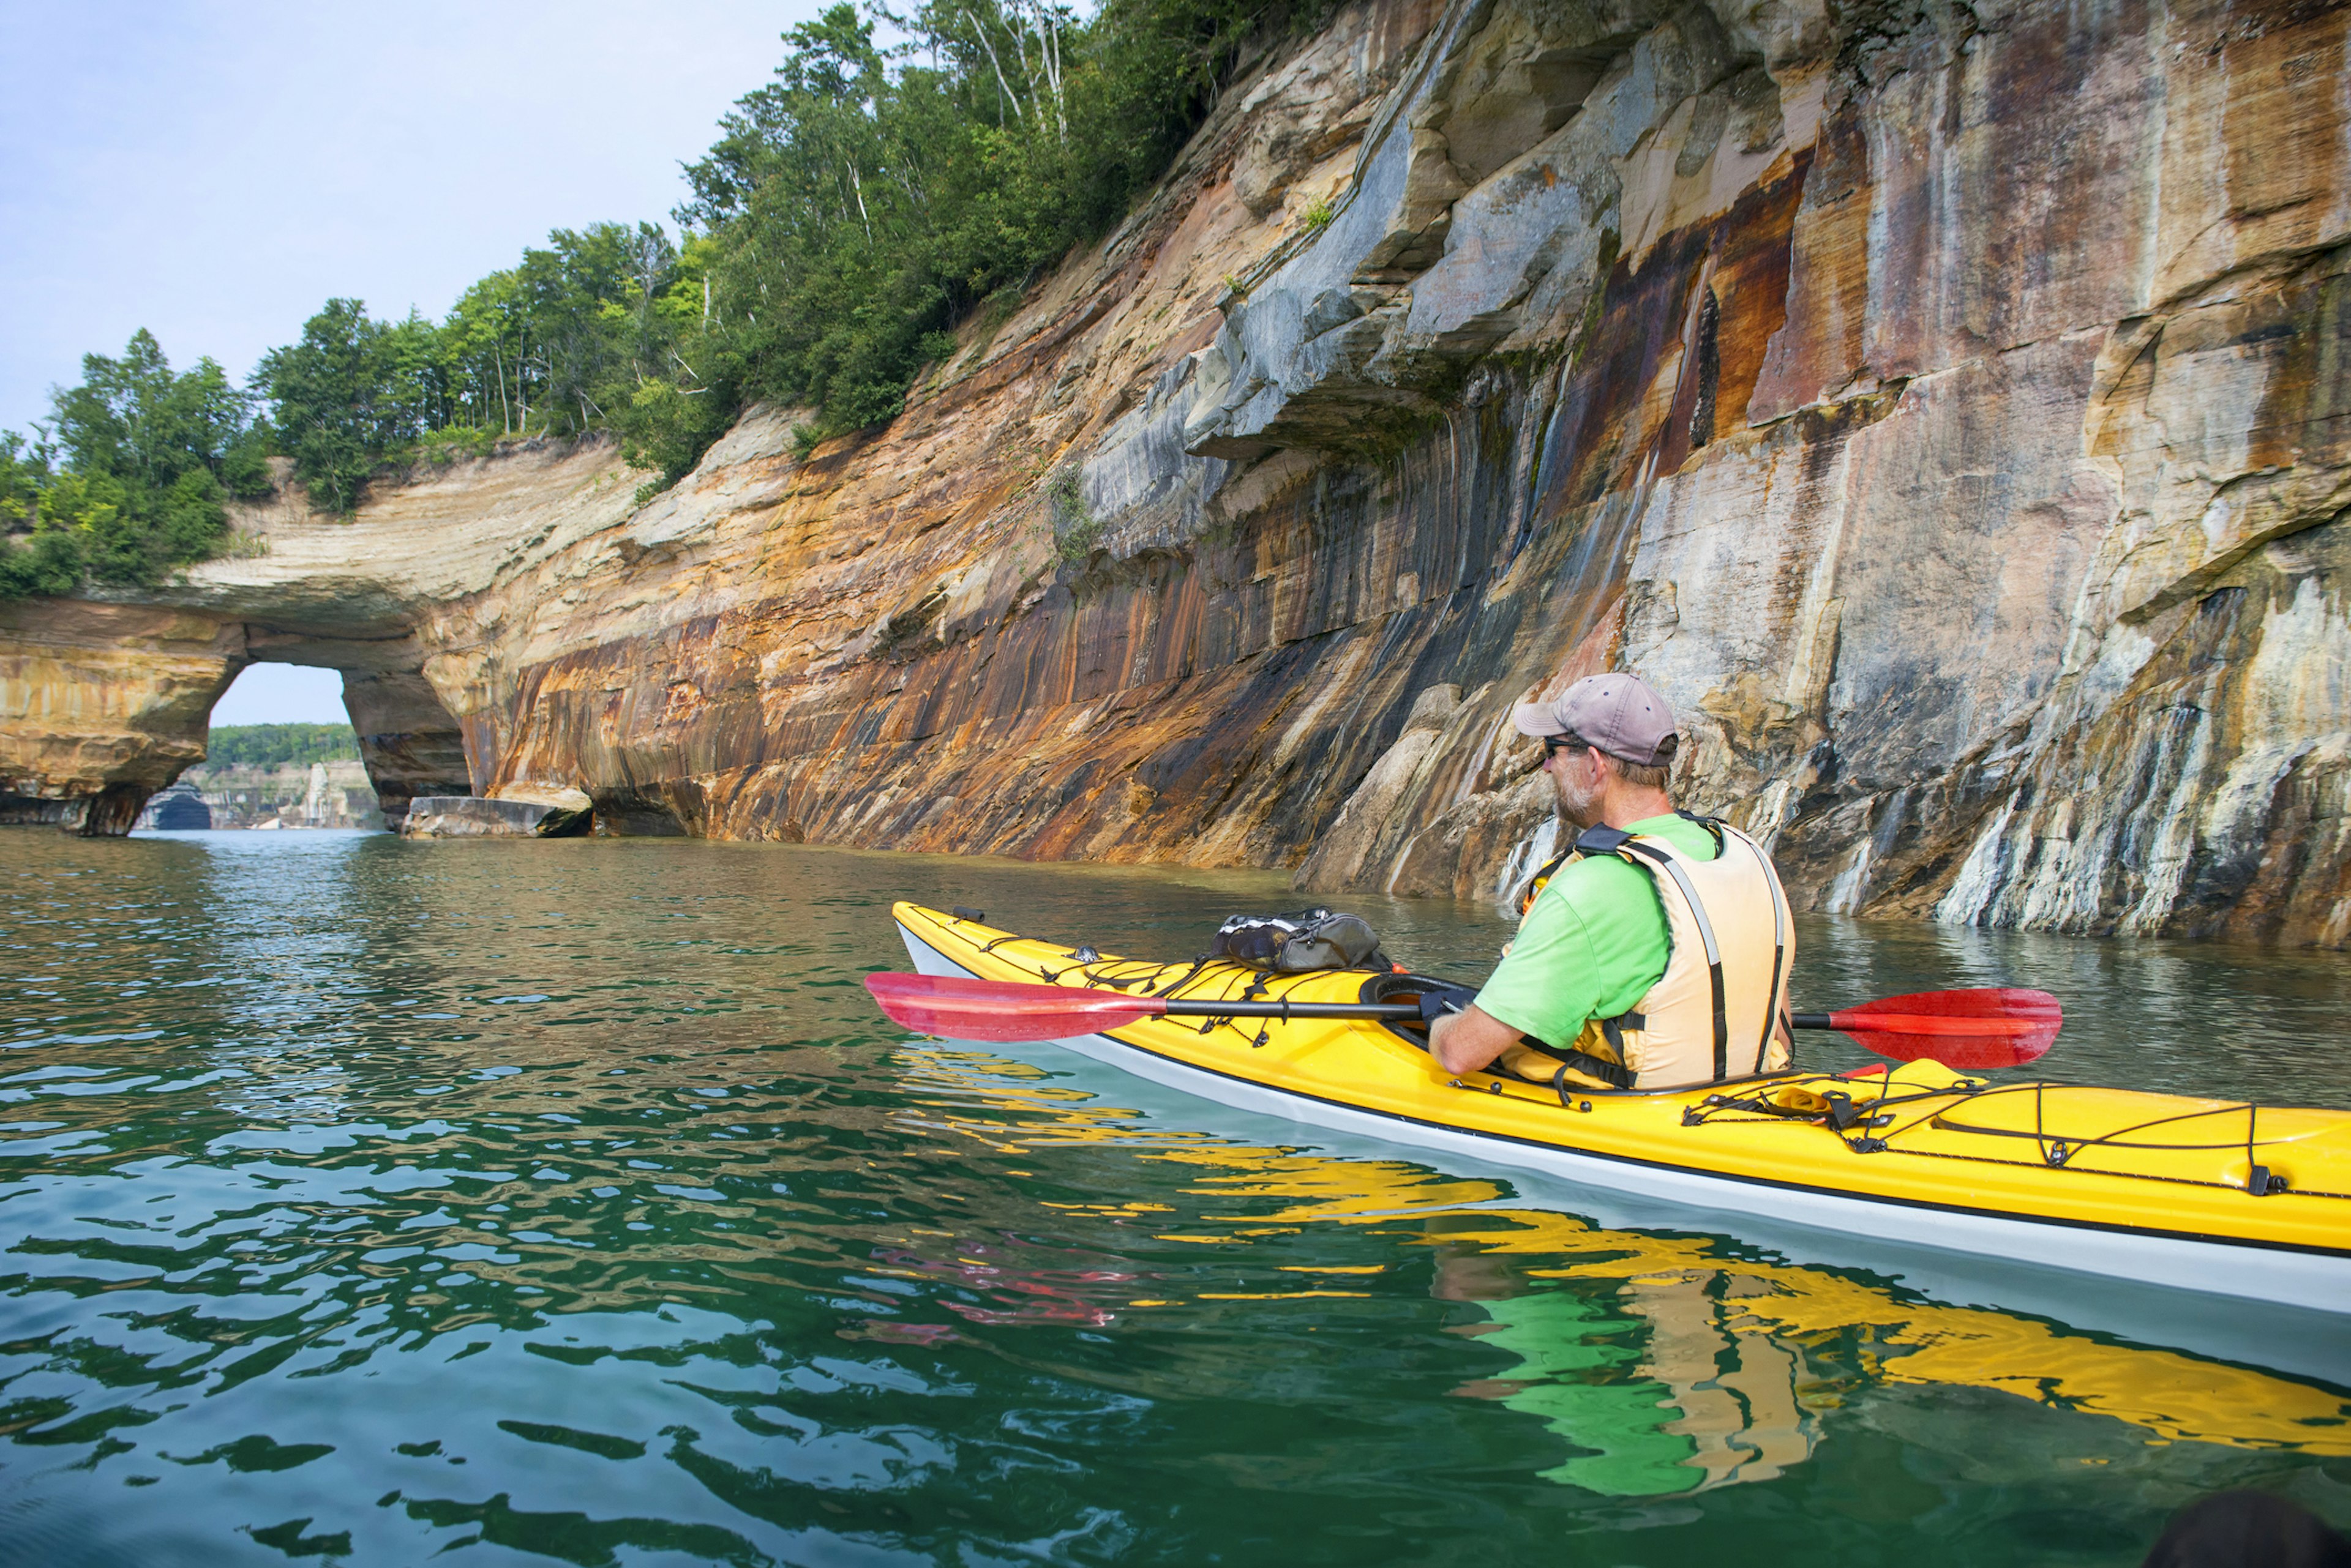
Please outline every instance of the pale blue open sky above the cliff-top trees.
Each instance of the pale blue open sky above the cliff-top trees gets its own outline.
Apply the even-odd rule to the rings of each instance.
[[[442,315],[668,219],[818,0],[0,0],[0,428],[139,327],[245,376],[329,296]]]

